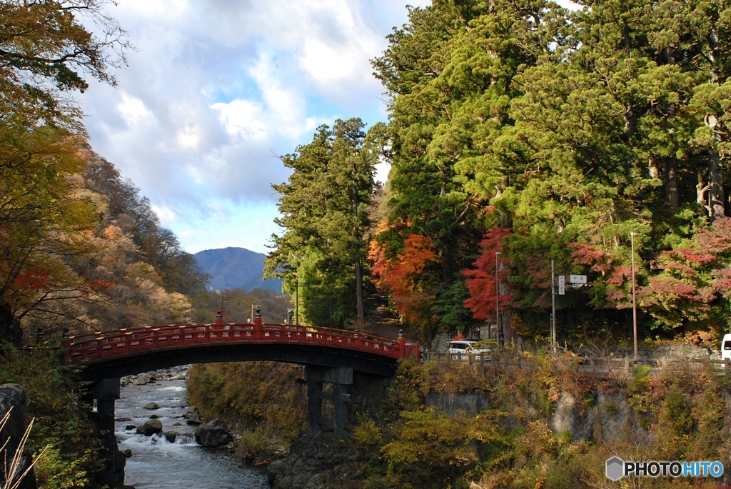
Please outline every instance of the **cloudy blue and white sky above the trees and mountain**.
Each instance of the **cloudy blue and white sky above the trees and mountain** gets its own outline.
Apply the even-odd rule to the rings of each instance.
[[[410,0],[425,7],[431,0]],[[407,20],[401,0],[120,0],[118,86],[79,102],[94,151],[148,197],[186,251],[268,252],[287,180],[277,155],[320,124],[386,121],[369,60]],[[376,178],[385,181],[387,165]]]

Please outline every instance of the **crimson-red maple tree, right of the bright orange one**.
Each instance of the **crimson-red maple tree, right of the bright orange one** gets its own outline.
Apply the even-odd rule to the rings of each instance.
[[[480,242],[482,255],[474,262],[475,268],[462,272],[467,277],[464,283],[470,295],[464,306],[472,311],[474,319],[487,319],[495,314],[495,253],[501,250],[507,235],[510,235],[510,230],[505,227],[496,227],[488,232]],[[508,263],[504,255],[499,255],[498,279],[502,283],[507,282]],[[510,293],[501,294],[499,300],[501,305],[510,305]]]

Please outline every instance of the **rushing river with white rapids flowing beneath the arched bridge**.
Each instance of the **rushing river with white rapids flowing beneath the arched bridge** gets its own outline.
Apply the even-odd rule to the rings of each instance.
[[[160,409],[145,409],[156,402]],[[115,434],[119,450],[132,450],[124,468],[124,483],[137,489],[268,489],[265,474],[244,466],[229,450],[210,449],[196,444],[194,426],[186,425],[183,414],[186,385],[183,380],[123,386],[115,403]],[[152,414],[162,421],[163,431],[177,434],[175,443],[164,436],[144,436],[126,425],[143,425]],[[175,426],[175,422],[180,425]]]

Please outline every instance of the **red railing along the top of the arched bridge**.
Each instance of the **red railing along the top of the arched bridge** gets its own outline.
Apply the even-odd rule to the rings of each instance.
[[[379,336],[329,327],[248,323],[145,326],[72,336],[64,341],[67,360],[98,360],[145,350],[187,348],[212,344],[309,344],[351,349],[392,358],[416,354],[418,345],[403,338]]]

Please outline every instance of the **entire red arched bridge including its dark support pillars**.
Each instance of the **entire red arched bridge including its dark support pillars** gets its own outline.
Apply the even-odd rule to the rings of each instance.
[[[366,384],[361,389],[374,393],[371,397],[378,395],[378,382],[369,387],[368,376],[393,376],[398,359],[419,358],[419,344],[406,344],[401,334],[391,340],[330,327],[264,324],[258,313],[254,322],[246,323],[224,323],[219,318],[208,325],[135,327],[83,336],[64,333],[65,363],[83,364],[83,374],[91,381],[90,398],[96,399],[99,436],[106,450],[107,482],[121,485],[124,480],[124,456],[114,435],[120,377],[189,363],[298,363],[306,367],[308,431],[319,433],[323,426],[332,426],[340,433],[350,393],[359,388],[357,379]],[[332,392],[324,392],[323,383],[333,384]],[[323,400],[333,403],[332,419],[322,416]]]

